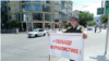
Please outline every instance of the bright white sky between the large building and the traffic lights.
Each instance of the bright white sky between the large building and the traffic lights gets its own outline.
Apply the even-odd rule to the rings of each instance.
[[[72,0],[73,1],[73,11],[80,10],[80,11],[89,11],[94,14],[94,16],[97,15],[97,8],[101,8],[101,0]]]

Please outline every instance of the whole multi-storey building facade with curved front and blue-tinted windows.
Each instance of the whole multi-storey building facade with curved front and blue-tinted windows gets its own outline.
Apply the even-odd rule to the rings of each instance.
[[[59,2],[57,5],[57,1]],[[0,0],[8,21],[21,21],[22,30],[34,28],[57,28],[59,22],[71,16],[71,0]],[[70,4],[71,3],[71,4]],[[70,9],[69,9],[69,7]],[[56,10],[56,8],[59,8]],[[70,13],[70,14],[69,14]]]

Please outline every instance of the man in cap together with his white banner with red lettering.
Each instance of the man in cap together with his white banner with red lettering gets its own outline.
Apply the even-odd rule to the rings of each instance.
[[[49,53],[52,56],[59,56],[74,60],[83,61],[83,39],[87,38],[85,28],[78,25],[78,19],[76,16],[71,17],[71,27],[69,27],[63,34],[48,34],[49,38]],[[70,33],[70,34],[64,34]],[[71,34],[76,33],[76,34]],[[77,34],[78,33],[78,34]],[[82,37],[83,36],[83,37]],[[81,53],[82,52],[82,53]],[[78,59],[80,58],[80,59]]]

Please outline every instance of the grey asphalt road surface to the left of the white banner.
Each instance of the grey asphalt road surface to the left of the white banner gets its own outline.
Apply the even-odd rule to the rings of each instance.
[[[0,35],[0,61],[48,61],[48,37],[27,38],[26,34]],[[58,61],[59,57],[51,57]]]

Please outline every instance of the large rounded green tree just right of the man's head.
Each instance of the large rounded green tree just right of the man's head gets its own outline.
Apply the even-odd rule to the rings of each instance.
[[[94,20],[94,14],[92,14],[89,12],[82,12],[82,13],[80,13],[78,20],[80,20],[81,25],[86,26],[87,22]]]

